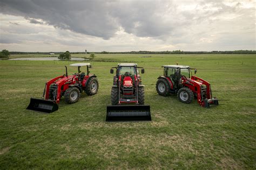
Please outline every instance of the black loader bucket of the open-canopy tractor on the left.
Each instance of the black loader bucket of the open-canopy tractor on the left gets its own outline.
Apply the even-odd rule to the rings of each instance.
[[[26,109],[50,114],[51,112],[58,110],[58,108],[58,104],[53,101],[30,98],[29,106]]]

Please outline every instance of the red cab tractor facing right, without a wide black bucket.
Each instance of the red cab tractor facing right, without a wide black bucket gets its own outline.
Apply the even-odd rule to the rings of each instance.
[[[165,65],[164,75],[159,76],[156,84],[157,93],[161,96],[177,94],[178,100],[191,103],[197,98],[201,107],[210,108],[210,105],[219,105],[218,99],[212,97],[211,85],[207,81],[192,75],[197,69],[190,66]]]

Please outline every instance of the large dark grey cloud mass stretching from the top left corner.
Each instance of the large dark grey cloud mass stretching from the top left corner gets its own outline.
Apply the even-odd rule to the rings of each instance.
[[[123,28],[138,37],[158,37],[180,25],[170,1],[1,0],[1,12],[109,39]],[[167,13],[166,13],[167,12]],[[168,15],[168,16],[166,16]],[[173,18],[173,19],[172,19]],[[174,19],[177,18],[177,19]]]

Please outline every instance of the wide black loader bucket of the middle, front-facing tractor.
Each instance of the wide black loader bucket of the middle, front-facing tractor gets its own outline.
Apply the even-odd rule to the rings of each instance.
[[[150,105],[109,105],[106,121],[151,121]]]

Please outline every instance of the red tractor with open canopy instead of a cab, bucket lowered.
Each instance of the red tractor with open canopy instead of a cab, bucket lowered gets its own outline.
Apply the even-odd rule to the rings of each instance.
[[[72,104],[79,100],[83,91],[89,96],[95,95],[98,91],[99,83],[95,74],[89,74],[91,64],[73,63],[70,66],[77,66],[78,73],[68,75],[68,69],[65,66],[66,74],[46,82],[42,100],[31,98],[26,109],[51,113],[58,110],[58,103],[62,96],[64,96],[66,103]],[[86,74],[80,71],[81,66],[86,66]]]

